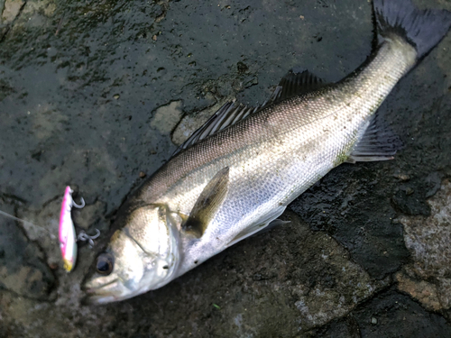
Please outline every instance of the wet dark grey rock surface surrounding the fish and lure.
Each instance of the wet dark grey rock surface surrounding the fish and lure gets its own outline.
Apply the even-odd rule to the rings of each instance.
[[[446,8],[443,1],[416,1]],[[290,68],[333,82],[370,54],[371,4],[0,0],[0,336],[449,336],[451,36],[381,114],[404,148],[345,164],[290,220],[168,286],[81,306],[93,260],[67,274],[60,199],[78,231],[115,210],[226,101],[258,105]]]

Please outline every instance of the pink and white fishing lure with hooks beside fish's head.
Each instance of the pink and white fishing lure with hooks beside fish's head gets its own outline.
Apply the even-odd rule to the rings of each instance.
[[[72,206],[78,208],[85,206],[83,198],[81,198],[81,205],[78,206],[72,199],[72,193],[73,190],[69,186],[66,187],[60,213],[60,249],[62,260],[64,261],[64,269],[68,272],[74,268],[77,260],[77,237],[70,212]]]

